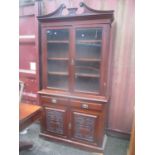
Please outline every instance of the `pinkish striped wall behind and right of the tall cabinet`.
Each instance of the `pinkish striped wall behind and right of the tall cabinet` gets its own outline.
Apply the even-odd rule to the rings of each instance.
[[[44,0],[44,13],[61,3],[78,6],[82,0]],[[113,71],[108,128],[129,133],[134,111],[134,0],[83,0],[94,9],[114,10],[111,50]]]

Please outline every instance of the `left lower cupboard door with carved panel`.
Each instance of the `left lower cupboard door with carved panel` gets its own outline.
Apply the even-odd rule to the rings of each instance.
[[[65,108],[45,108],[46,131],[60,136],[67,136],[67,111]]]

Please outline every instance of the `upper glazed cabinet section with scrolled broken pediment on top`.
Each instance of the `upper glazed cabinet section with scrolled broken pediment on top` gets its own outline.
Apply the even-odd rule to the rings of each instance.
[[[41,25],[42,89],[69,94],[107,96],[109,40],[113,11],[97,11],[80,3],[39,16]]]

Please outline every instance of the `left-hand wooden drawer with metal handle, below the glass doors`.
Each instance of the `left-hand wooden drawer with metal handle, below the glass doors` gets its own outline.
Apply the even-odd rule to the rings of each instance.
[[[68,100],[66,98],[55,97],[55,96],[41,96],[41,104],[43,106],[50,106],[50,105],[68,105]]]

